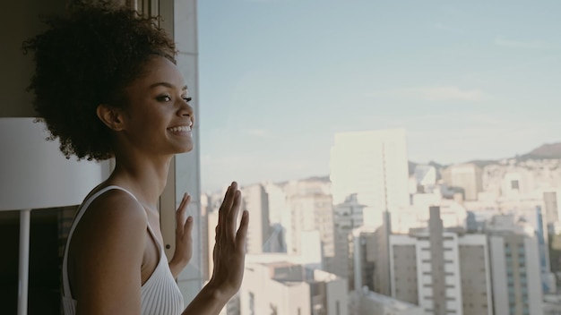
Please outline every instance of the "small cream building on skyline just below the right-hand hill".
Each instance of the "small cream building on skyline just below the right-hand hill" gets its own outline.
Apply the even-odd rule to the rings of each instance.
[[[448,166],[442,178],[447,185],[462,188],[464,200],[478,200],[483,192],[483,171],[473,163]]]

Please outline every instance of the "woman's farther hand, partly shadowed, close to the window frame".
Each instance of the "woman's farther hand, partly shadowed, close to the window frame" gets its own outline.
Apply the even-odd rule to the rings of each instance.
[[[174,278],[179,276],[183,268],[187,266],[193,257],[193,217],[187,217],[187,205],[191,196],[185,193],[176,211],[176,251],[169,261],[169,269]]]

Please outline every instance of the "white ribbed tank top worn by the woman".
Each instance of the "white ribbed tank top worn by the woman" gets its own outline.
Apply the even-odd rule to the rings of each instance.
[[[91,195],[90,198],[85,200],[80,206],[78,210],[78,214],[74,218],[72,227],[70,228],[70,233],[68,234],[68,239],[66,240],[65,246],[65,256],[63,258],[63,269],[62,269],[62,276],[63,276],[63,307],[65,310],[65,315],[74,315],[76,313],[76,303],[78,301],[74,300],[72,294],[70,292],[70,283],[68,281],[68,248],[70,246],[70,240],[72,238],[74,228],[80,222],[83,214],[86,212],[86,209],[90,206],[91,202],[99,197],[103,192],[107,192],[111,189],[118,189],[124,192],[128,192],[134,200],[133,193],[125,190],[119,186],[108,186],[104,187],[99,192],[94,193]],[[142,315],[158,315],[158,314],[181,314],[183,311],[183,295],[179,291],[179,287],[173,275],[171,274],[171,270],[169,270],[168,260],[166,260],[166,255],[164,253],[163,247],[151,229],[150,223],[148,223],[148,231],[151,234],[151,237],[155,240],[158,244],[160,249],[160,262],[152,272],[151,276],[146,280],[144,285],[141,288],[141,302],[142,302]],[[138,270],[140,272],[140,270]]]

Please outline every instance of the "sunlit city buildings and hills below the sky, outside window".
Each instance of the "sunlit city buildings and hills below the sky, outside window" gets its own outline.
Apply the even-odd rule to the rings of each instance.
[[[406,139],[335,133],[329,175],[242,186],[246,273],[222,314],[561,314],[561,147],[442,166]],[[221,198],[201,199],[207,278]]]

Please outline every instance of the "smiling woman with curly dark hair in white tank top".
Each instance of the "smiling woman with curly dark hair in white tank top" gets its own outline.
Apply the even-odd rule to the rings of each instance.
[[[63,262],[65,314],[218,314],[244,271],[248,214],[240,192],[220,207],[210,282],[185,310],[175,278],[192,252],[190,197],[177,209],[166,260],[157,202],[171,158],[193,149],[193,108],[174,43],[152,19],[110,4],[77,4],[24,44],[35,52],[34,106],[67,157],[115,158],[84,200]]]

